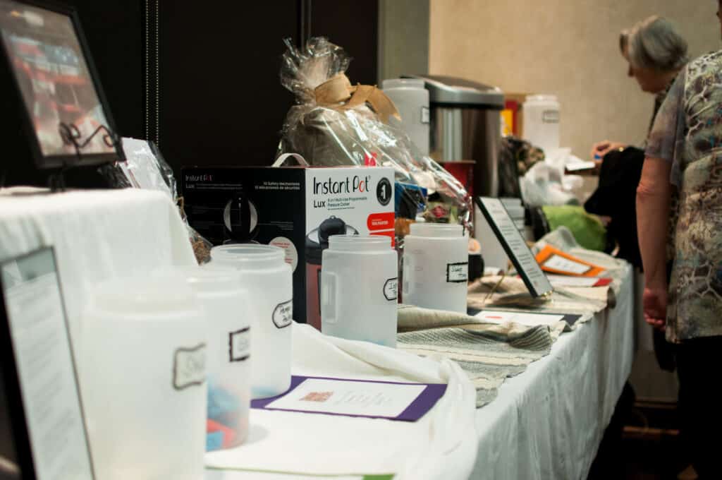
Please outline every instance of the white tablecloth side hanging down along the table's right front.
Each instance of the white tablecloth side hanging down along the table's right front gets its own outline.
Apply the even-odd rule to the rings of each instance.
[[[586,479],[631,371],[634,308],[628,268],[614,309],[561,335],[479,408],[470,479]]]

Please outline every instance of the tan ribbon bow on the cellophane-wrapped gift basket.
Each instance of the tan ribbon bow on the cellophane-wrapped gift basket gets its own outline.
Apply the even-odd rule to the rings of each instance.
[[[386,93],[375,85],[351,85],[349,78],[342,73],[318,85],[313,93],[316,103],[321,106],[345,109],[368,103],[384,123],[388,123],[389,116],[401,120],[399,111]]]

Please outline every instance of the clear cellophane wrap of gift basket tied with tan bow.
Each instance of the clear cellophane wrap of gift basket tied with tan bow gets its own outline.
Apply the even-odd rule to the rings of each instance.
[[[352,86],[344,75],[350,58],[326,38],[311,38],[305,48],[285,40],[281,83],[297,105],[284,122],[278,155],[300,153],[313,166],[386,166],[396,173],[396,192],[418,200],[419,187],[429,197],[414,215],[397,208],[398,228],[422,213],[427,221],[458,222],[471,228],[471,197],[435,160],[422,155],[399,127],[386,123],[397,116],[391,100],[376,87]],[[404,187],[405,186],[405,187]],[[415,200],[409,200],[409,199]],[[403,205],[403,204],[402,204]],[[439,207],[441,206],[441,209]],[[431,208],[430,208],[431,207]],[[430,213],[444,210],[445,215]]]

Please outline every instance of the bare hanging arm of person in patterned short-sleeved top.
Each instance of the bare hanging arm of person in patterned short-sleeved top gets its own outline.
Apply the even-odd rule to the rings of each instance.
[[[666,242],[669,225],[671,163],[647,157],[637,187],[637,233],[644,266],[645,319],[664,327],[667,304]]]

